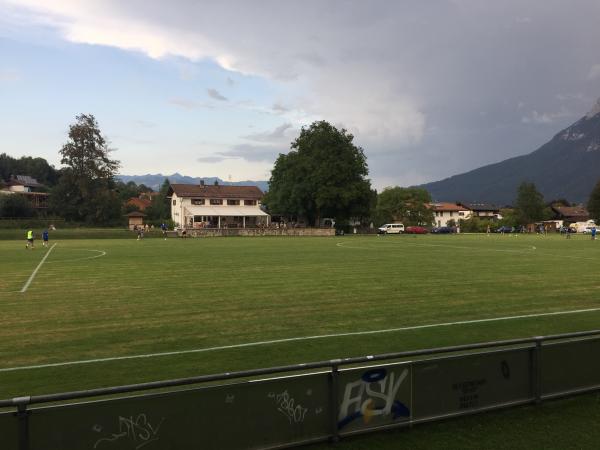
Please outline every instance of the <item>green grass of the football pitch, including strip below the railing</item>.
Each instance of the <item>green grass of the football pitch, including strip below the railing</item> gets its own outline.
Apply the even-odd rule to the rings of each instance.
[[[51,243],[19,293],[46,250],[0,241],[0,369],[600,307],[600,241],[584,236]],[[0,372],[0,398],[598,328],[600,311]],[[586,398],[567,402],[596,411]],[[397,433],[421,448],[414,436],[474,433],[468,424],[529,417],[520,411]],[[375,448],[361,439],[345,445]]]

